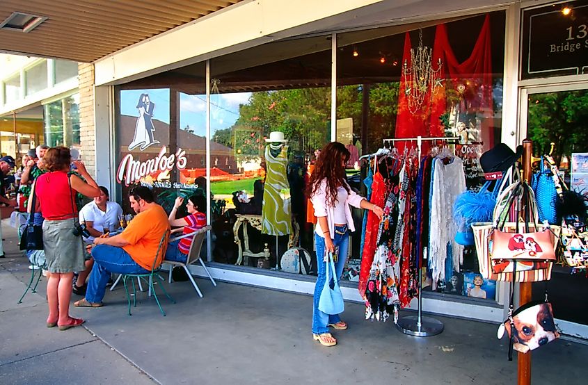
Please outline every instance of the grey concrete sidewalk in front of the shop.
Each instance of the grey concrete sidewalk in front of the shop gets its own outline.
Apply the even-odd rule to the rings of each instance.
[[[166,317],[146,293],[128,316],[118,286],[100,309],[72,306],[84,327],[47,329],[46,281],[17,304],[30,270],[6,222],[3,234],[0,384],[516,384],[516,358],[507,361],[496,325],[436,317],[443,333],[416,338],[346,304],[349,330],[322,347],[310,333],[311,297],[208,279],[198,279],[203,298],[187,281],[166,283],[177,301],[161,297]],[[541,347],[532,383],[585,384],[585,357],[587,345],[562,339]]]

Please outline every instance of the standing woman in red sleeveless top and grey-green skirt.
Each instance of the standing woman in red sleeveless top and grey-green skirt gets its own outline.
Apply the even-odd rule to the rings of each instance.
[[[43,247],[50,273],[47,281],[47,327],[57,325],[60,330],[65,330],[84,323],[80,318],[70,317],[74,271],[84,270],[84,246],[81,236],[74,234],[75,224],[78,223],[75,196],[79,192],[86,197],[97,197],[100,189],[86,171],[84,163],[76,161],[73,165],[87,183],[69,174],[72,158],[67,147],[48,149],[43,161],[48,172],[35,179],[33,189],[45,218]]]

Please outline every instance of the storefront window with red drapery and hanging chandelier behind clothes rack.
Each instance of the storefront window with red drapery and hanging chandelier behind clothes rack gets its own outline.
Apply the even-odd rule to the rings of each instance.
[[[422,155],[447,146],[462,159],[468,188],[479,188],[479,155],[500,142],[504,13],[341,33],[337,46],[337,140],[351,152],[351,186],[368,195],[364,181],[385,161],[380,156],[376,164],[374,154],[388,147],[399,151],[395,159],[410,156],[422,136],[457,138],[426,141]],[[392,138],[414,139],[385,146]],[[353,216],[362,229],[362,211]],[[363,233],[351,236],[344,278],[352,281],[359,279]],[[477,272],[475,252],[466,247],[459,272],[447,271],[433,286],[466,296]],[[495,284],[483,288],[494,299]]]

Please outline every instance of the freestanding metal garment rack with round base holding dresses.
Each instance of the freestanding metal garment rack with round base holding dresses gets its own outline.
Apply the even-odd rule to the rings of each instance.
[[[394,138],[394,139],[384,139],[383,142],[409,142],[414,141],[417,142],[417,158],[418,158],[418,165],[420,167],[420,155],[422,151],[422,142],[424,140],[440,140],[443,142],[447,142],[449,140],[459,140],[458,137],[438,137],[438,138],[423,138],[422,136],[417,136],[416,138]],[[427,256],[427,249],[424,250],[425,258]],[[429,336],[436,336],[443,331],[443,322],[437,320],[436,318],[422,316],[422,266],[419,266],[419,284],[418,284],[418,309],[416,316],[405,316],[399,318],[398,322],[396,323],[397,329],[402,331],[404,334],[408,334],[415,337],[429,337]]]

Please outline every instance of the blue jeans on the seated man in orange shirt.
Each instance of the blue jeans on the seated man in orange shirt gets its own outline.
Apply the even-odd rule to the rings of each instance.
[[[92,249],[94,267],[88,279],[86,289],[86,301],[100,303],[106,292],[106,284],[111,273],[120,274],[145,274],[145,270],[138,265],[122,247],[97,245]]]

